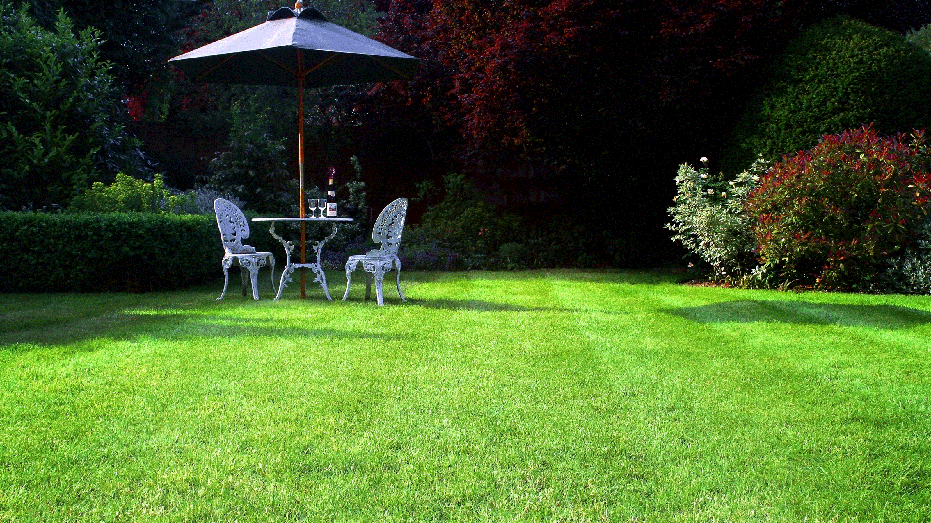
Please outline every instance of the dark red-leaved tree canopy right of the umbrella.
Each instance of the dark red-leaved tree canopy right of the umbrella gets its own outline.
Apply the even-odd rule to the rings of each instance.
[[[452,127],[462,158],[541,154],[590,165],[670,111],[700,104],[775,48],[765,0],[394,0],[381,39],[423,60],[371,89],[366,114]],[[405,112],[405,109],[410,111]],[[369,121],[371,123],[371,120]]]

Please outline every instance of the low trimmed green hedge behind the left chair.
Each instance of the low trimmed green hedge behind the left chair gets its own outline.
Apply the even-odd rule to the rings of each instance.
[[[0,248],[4,292],[146,292],[223,274],[212,215],[5,212]]]

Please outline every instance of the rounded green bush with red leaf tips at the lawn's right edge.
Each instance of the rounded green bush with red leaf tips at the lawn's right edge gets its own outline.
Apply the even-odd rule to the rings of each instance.
[[[911,245],[931,189],[924,132],[911,136],[880,137],[871,126],[826,135],[762,177],[747,210],[779,285],[863,288]]]

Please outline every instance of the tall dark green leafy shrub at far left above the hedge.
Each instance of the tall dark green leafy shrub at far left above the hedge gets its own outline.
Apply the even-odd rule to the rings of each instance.
[[[4,0],[0,19],[0,208],[67,206],[93,181],[138,170],[100,34],[75,35],[61,11],[47,31]]]

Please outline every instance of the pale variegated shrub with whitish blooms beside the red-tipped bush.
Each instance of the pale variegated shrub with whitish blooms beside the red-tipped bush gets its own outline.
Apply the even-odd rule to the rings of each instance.
[[[767,163],[757,158],[735,180],[723,181],[708,176],[708,158],[702,162],[706,167],[679,166],[676,205],[668,208],[672,222],[667,228],[676,233],[674,241],[710,263],[712,279],[733,280],[756,266],[753,220],[744,211],[744,202]]]

